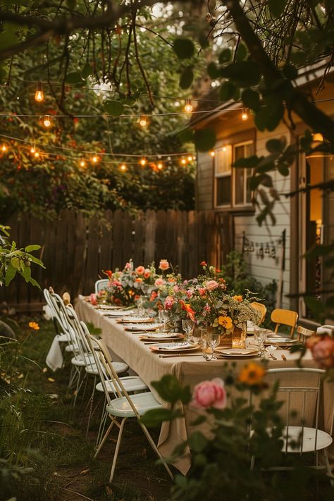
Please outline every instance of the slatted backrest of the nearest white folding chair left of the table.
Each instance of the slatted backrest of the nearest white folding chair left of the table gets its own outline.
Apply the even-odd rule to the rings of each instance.
[[[113,364],[111,363],[111,356],[109,353],[108,348],[104,344],[102,340],[98,340],[97,338],[94,338],[91,334],[88,335],[88,339],[91,343],[92,350],[95,351],[97,354],[97,357],[99,357],[99,361],[101,363],[101,373],[103,374],[104,372],[107,373],[110,377],[111,382],[113,383],[117,397],[122,398],[124,397],[126,400],[128,400],[128,404],[130,405],[132,411],[134,412],[135,416],[137,419],[140,419],[140,414],[138,414],[137,409],[135,408],[135,405],[133,404],[130,395],[128,392],[125,390],[122,381],[120,378],[118,378],[118,375],[116,374],[115,369],[113,369]],[[101,375],[100,375],[101,377]],[[102,386],[104,388],[104,393],[106,395],[107,402],[110,402],[110,396],[108,397],[108,391],[106,390],[106,383],[105,381],[102,381],[101,379]]]

